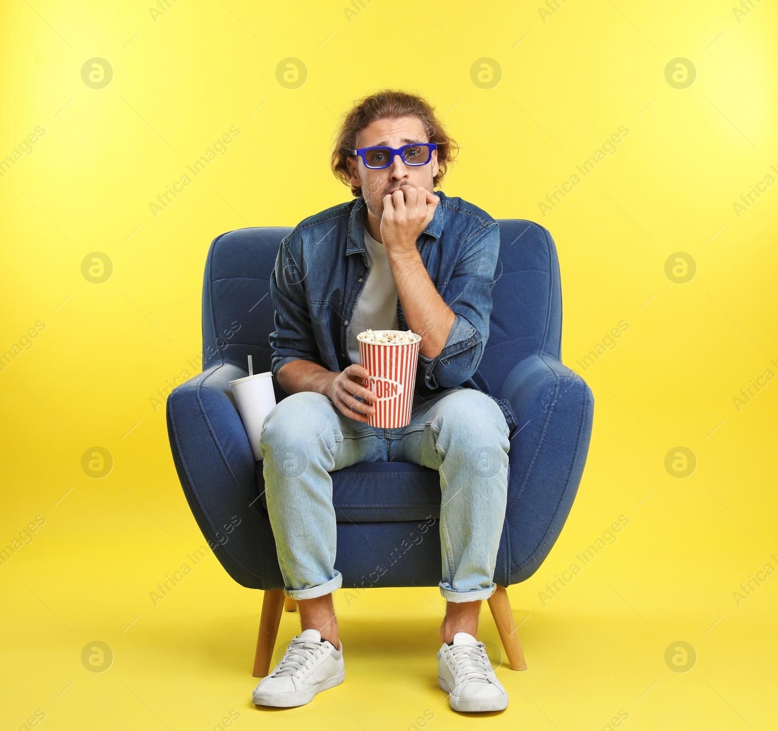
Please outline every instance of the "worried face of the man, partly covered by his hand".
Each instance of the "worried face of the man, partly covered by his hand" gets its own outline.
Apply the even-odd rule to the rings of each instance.
[[[429,142],[418,117],[377,119],[359,132],[356,148],[387,145],[397,149],[410,142]],[[394,156],[389,167],[381,170],[365,167],[359,156],[347,158],[346,164],[349,166],[352,185],[362,187],[367,209],[379,220],[384,214],[384,195],[393,193],[401,185],[421,185],[431,193],[433,178],[438,172],[437,150],[433,150],[429,163],[418,167],[406,165],[399,155]]]

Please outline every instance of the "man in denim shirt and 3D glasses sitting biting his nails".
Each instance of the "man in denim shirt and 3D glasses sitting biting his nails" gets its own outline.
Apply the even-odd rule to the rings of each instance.
[[[329,473],[356,462],[415,462],[440,471],[440,687],[457,711],[506,708],[508,696],[477,637],[503,529],[510,405],[488,395],[477,367],[489,336],[499,251],[495,220],[433,195],[455,142],[433,107],[384,90],[345,116],[331,167],[356,200],[303,220],[281,243],[270,291],[272,371],[290,395],[260,441],[268,515],[286,595],[302,631],[258,684],[254,703],[294,706],[342,683],[343,647],[331,592],[336,523]],[[370,427],[356,336],[422,336],[411,422]]]

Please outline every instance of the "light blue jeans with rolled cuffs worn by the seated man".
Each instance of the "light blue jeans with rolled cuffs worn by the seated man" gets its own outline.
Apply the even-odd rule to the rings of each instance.
[[[508,425],[488,395],[455,388],[415,395],[407,427],[349,419],[330,399],[300,392],[265,419],[260,451],[268,515],[286,595],[314,599],[342,585],[329,473],[357,462],[415,462],[440,472],[440,593],[489,599],[508,489]]]

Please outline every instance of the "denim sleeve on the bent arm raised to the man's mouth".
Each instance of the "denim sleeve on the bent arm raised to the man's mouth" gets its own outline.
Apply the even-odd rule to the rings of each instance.
[[[492,287],[499,254],[499,226],[489,223],[473,234],[445,290],[443,300],[454,312],[454,324],[443,350],[428,358],[419,353],[424,382],[429,388],[454,388],[475,373],[489,339]]]

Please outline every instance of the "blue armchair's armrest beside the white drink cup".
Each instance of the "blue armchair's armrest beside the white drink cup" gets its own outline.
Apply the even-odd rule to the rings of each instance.
[[[167,399],[167,431],[181,487],[209,546],[237,582],[264,589],[264,558],[272,550],[268,562],[276,564],[275,542],[229,383],[246,375],[221,363],[174,388]]]

